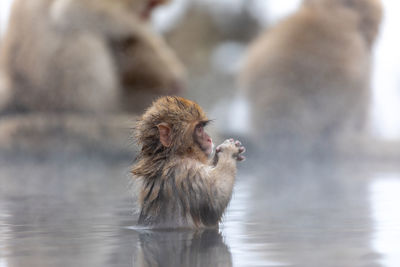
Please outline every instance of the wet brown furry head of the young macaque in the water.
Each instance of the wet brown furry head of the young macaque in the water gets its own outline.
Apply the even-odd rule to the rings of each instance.
[[[209,120],[201,107],[182,97],[154,101],[136,125],[141,157],[166,159],[179,155],[207,161],[213,143],[204,128]]]

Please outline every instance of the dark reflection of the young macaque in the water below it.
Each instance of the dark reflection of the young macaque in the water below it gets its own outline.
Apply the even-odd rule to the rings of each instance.
[[[133,266],[232,266],[232,259],[217,230],[142,231]]]

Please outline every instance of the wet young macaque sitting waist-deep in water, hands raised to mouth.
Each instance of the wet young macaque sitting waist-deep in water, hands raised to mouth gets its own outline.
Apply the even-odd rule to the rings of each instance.
[[[204,129],[208,122],[199,105],[180,97],[159,98],[138,120],[141,152],[132,174],[141,186],[139,224],[218,227],[245,148],[229,139],[211,159],[213,142]]]

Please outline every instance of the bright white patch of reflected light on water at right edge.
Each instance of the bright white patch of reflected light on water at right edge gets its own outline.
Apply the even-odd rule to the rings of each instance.
[[[400,266],[399,178],[399,175],[380,175],[370,185],[375,222],[373,246],[384,256],[382,264],[386,267]]]

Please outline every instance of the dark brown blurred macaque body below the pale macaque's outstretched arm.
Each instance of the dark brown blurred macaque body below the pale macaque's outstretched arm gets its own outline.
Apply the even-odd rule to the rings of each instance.
[[[160,36],[150,29],[148,33],[148,38],[131,36],[110,43],[126,99],[177,95],[186,88],[186,70],[179,58]]]

